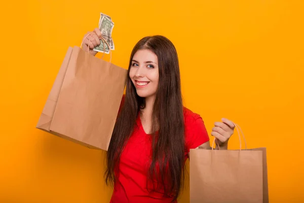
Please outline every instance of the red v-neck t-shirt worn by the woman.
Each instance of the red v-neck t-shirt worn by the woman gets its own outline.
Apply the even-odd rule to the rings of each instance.
[[[190,149],[209,141],[208,133],[200,115],[184,108],[185,161]],[[146,188],[151,139],[146,134],[140,117],[137,117],[132,136],[121,155],[119,178],[114,186],[110,203],[165,203],[163,191],[149,192]],[[148,186],[149,187],[149,186]],[[151,189],[151,188],[150,188]]]

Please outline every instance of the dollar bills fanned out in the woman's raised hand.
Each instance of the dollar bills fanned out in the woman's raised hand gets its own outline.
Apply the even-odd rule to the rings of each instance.
[[[114,23],[112,22],[111,18],[103,13],[100,13],[100,18],[99,18],[99,29],[101,31],[101,35],[103,39],[107,42],[107,44],[110,46],[108,47],[105,42],[100,40],[100,45],[95,47],[93,50],[98,51],[98,52],[104,52],[104,53],[109,53],[110,49],[114,50],[115,45],[112,40],[112,30],[114,27]]]

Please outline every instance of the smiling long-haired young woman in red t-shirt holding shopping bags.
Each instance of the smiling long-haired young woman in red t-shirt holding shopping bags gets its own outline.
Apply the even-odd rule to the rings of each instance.
[[[98,28],[89,33],[83,49],[89,46],[95,55],[101,33]],[[216,149],[227,149],[233,122],[214,125]],[[202,118],[182,105],[174,45],[163,36],[141,39],[131,53],[126,95],[107,152],[105,181],[114,186],[110,202],[177,202],[184,163],[198,147],[211,149]]]

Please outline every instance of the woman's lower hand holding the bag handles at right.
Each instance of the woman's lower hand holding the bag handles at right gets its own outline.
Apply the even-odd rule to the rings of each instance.
[[[215,143],[219,146],[226,145],[234,132],[235,125],[231,120],[221,119],[222,122],[215,122],[211,135],[216,138]]]

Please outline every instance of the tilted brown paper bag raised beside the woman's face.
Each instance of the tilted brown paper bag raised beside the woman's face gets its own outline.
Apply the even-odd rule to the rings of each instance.
[[[36,127],[107,150],[126,77],[126,69],[80,47],[69,48]]]

